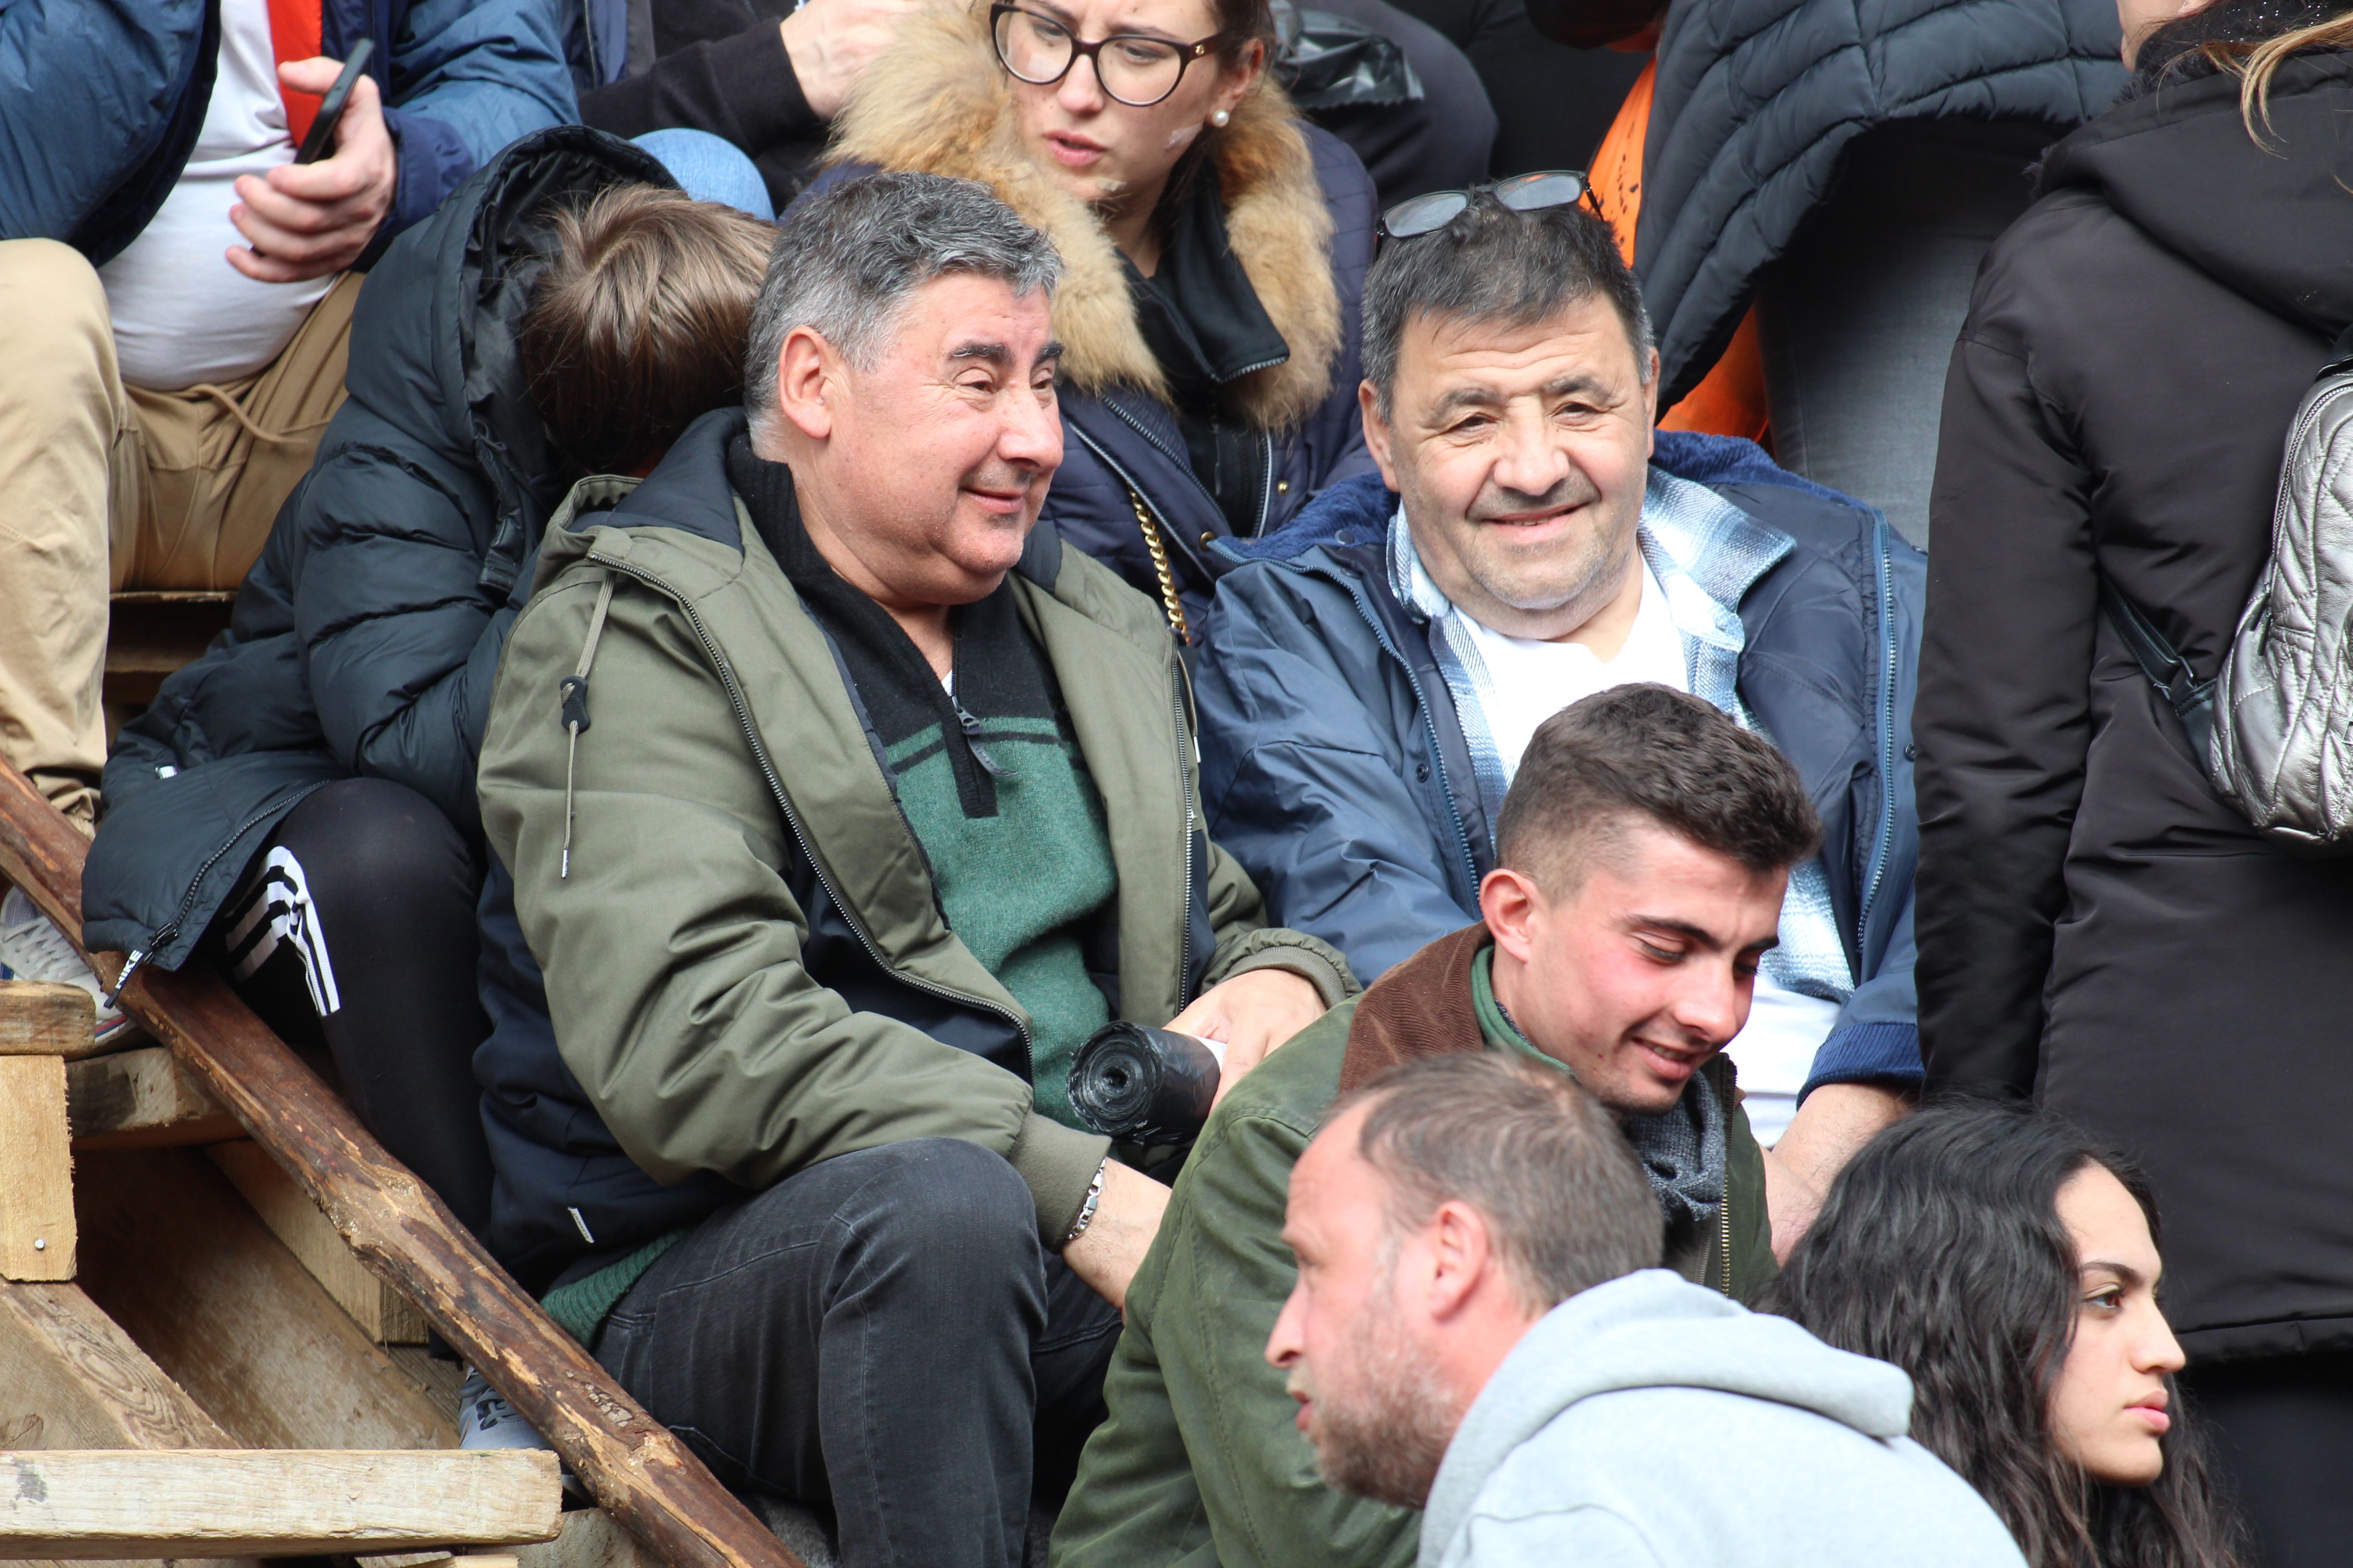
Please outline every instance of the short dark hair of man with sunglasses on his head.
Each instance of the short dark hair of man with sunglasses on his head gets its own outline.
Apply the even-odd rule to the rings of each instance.
[[[1478,193],[1445,228],[1388,240],[1365,275],[1365,381],[1388,418],[1405,324],[1417,315],[1527,327],[1600,294],[1649,386],[1649,313],[1617,235],[1584,207],[1513,212]]]

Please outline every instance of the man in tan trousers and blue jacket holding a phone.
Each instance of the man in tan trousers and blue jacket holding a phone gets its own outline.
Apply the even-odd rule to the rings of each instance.
[[[560,0],[0,0],[0,757],[85,830],[108,590],[238,585],[344,400],[358,270],[576,118],[567,28]],[[12,971],[87,983],[21,896]]]

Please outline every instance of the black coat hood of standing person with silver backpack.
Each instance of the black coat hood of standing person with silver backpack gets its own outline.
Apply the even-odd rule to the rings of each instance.
[[[2235,75],[2198,75],[2118,103],[2052,148],[2040,195],[2089,190],[2233,294],[2334,336],[2353,322],[2353,141],[2344,134],[2353,56],[2301,54],[2280,66],[2271,148],[2247,134],[2238,87]]]

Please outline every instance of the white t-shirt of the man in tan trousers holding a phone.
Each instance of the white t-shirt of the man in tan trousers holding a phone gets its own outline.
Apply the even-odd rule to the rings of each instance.
[[[221,63],[205,127],[172,195],[99,268],[122,378],[158,393],[235,381],[275,360],[334,277],[256,282],[224,252],[247,244],[228,209],[240,174],[294,162],[268,0],[221,0]]]

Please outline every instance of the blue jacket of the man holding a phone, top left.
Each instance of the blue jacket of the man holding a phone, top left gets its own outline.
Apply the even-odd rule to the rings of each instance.
[[[515,136],[579,120],[560,0],[320,0],[320,54],[362,38],[400,183],[362,266]],[[104,266],[172,193],[205,127],[221,0],[0,0],[0,240]]]

